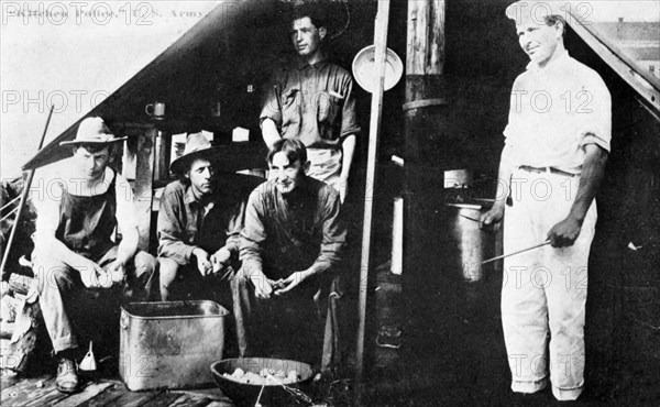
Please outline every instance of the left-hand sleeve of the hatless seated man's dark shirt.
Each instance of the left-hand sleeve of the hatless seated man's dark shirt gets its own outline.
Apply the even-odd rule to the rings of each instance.
[[[264,205],[260,189],[255,189],[250,194],[245,208],[245,226],[240,235],[240,257],[245,276],[250,277],[263,271],[262,250],[265,240]]]

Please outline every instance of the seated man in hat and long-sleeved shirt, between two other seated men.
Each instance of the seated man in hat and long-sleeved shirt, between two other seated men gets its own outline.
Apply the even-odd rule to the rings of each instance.
[[[262,179],[240,174],[217,176],[215,153],[202,133],[190,134],[184,154],[170,165],[180,179],[167,185],[158,212],[160,287],[164,301],[172,300],[173,294],[186,298],[193,290],[196,297],[212,297],[230,305],[217,298],[222,286],[209,285],[206,277],[233,277],[232,263],[239,257],[248,196]],[[229,292],[226,299],[231,301]]]

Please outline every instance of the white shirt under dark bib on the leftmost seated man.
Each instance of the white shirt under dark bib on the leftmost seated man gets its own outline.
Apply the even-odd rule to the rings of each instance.
[[[38,178],[30,188],[31,200],[36,209],[36,233],[54,235],[59,226],[59,205],[62,196],[66,189],[75,196],[97,196],[108,191],[112,177],[117,176],[114,190],[117,195],[117,224],[119,230],[130,230],[138,227],[135,219],[135,209],[133,204],[133,190],[129,182],[120,174],[114,174],[110,167],[106,167],[103,182],[96,188],[89,190],[85,187],[82,178],[66,176],[68,161],[64,160],[55,166],[47,166],[37,169]],[[70,166],[72,164],[68,164]]]

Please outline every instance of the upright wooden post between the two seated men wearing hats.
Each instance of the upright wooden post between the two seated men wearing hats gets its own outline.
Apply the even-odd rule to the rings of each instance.
[[[145,130],[138,139],[138,164],[135,169],[135,212],[140,242],[138,248],[148,251],[153,200],[154,165],[156,153],[156,128]]]

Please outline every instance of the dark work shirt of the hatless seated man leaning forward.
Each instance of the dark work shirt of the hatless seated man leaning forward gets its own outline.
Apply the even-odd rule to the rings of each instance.
[[[250,195],[241,232],[241,261],[248,276],[262,271],[270,278],[314,268],[322,274],[342,256],[346,229],[339,194],[305,178],[286,197],[270,180]]]

